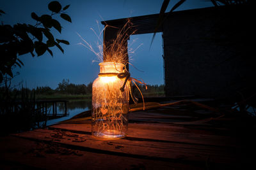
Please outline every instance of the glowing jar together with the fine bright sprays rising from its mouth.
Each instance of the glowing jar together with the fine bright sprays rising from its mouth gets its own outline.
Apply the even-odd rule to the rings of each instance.
[[[111,26],[106,25],[104,31],[107,27]],[[129,92],[131,94],[131,81],[128,80],[131,78],[125,65],[128,53],[134,53],[134,50],[127,48],[127,39],[135,32],[131,32],[131,27],[128,20],[111,43],[101,41],[103,46],[97,43],[99,52],[95,52],[92,45],[78,34],[85,43],[80,44],[95,53],[101,61],[99,77],[93,81],[92,87],[92,135],[98,138],[117,139],[127,134]],[[134,97],[132,99],[136,102]]]

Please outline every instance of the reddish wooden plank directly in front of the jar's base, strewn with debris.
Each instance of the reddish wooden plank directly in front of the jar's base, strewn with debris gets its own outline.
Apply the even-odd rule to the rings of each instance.
[[[229,152],[223,148],[209,146],[193,146],[180,143],[163,143],[159,141],[129,141],[127,139],[100,140],[92,138],[88,134],[76,134],[72,132],[51,131],[37,129],[30,132],[15,134],[22,138],[51,141],[69,146],[76,146],[82,150],[97,153],[109,153],[111,155],[141,157],[166,161],[205,162],[211,159],[213,162],[231,164],[234,162],[234,151]]]

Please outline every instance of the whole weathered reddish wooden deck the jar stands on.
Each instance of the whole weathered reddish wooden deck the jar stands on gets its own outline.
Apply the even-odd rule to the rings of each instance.
[[[129,113],[123,139],[93,138],[90,120],[0,138],[0,169],[247,169],[254,130],[244,117],[166,106]]]

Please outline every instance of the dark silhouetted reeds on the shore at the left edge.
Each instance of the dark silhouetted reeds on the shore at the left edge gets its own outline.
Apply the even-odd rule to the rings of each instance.
[[[0,136],[45,127],[47,117],[36,108],[35,90],[0,87]]]

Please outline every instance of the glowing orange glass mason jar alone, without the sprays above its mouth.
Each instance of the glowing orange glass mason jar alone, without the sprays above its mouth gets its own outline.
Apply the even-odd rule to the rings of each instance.
[[[101,62],[99,77],[92,85],[92,135],[98,138],[123,138],[127,134],[129,87],[120,87],[124,79],[117,77],[124,64]]]

